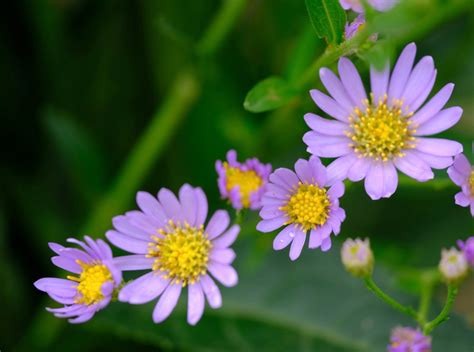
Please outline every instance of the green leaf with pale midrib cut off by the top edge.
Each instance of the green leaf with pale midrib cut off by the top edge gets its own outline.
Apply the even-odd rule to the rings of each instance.
[[[306,8],[316,34],[328,44],[343,40],[346,12],[338,0],[306,0]]]

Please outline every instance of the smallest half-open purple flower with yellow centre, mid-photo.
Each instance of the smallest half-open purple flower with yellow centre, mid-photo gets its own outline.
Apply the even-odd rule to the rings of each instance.
[[[235,209],[261,207],[261,198],[272,172],[270,164],[262,164],[257,158],[239,163],[235,150],[229,150],[227,161],[217,160],[216,171],[221,196],[229,199]]]

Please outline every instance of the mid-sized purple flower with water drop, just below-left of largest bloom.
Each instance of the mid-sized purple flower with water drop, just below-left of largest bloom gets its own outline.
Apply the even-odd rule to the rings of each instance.
[[[344,209],[339,207],[344,184],[335,182],[328,188],[326,168],[319,158],[298,160],[295,171],[279,168],[270,175],[262,198],[262,220],[257,225],[261,232],[285,226],[275,237],[273,248],[281,250],[291,243],[291,260],[300,256],[307,233],[309,248],[329,250],[331,233],[339,234],[346,217]]]

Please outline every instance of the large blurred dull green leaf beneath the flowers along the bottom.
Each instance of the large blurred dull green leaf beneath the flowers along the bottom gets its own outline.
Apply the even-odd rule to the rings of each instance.
[[[251,268],[244,266],[253,254],[243,254],[237,259],[238,286],[223,288],[223,307],[207,307],[195,327],[186,323],[186,297],[181,297],[177,310],[160,325],[152,322],[153,302],[145,306],[115,304],[88,327],[166,349],[384,351],[390,330],[412,322],[373,297],[361,280],[347,274],[339,249],[335,246],[328,253],[305,249],[297,262],[288,259],[287,250],[272,251]],[[244,251],[240,248],[237,252]],[[393,292],[380,266],[376,274],[380,285]],[[395,296],[402,302],[416,303],[396,291]],[[453,334],[456,339],[449,338]],[[471,352],[467,346],[473,345],[473,339],[466,324],[453,317],[436,331],[434,351]]]

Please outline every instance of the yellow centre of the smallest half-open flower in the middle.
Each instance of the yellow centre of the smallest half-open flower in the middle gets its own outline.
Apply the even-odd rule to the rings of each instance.
[[[227,178],[227,191],[239,187],[240,197],[244,208],[250,207],[250,195],[263,184],[262,178],[253,170],[242,171],[238,167],[231,167],[224,163]]]

